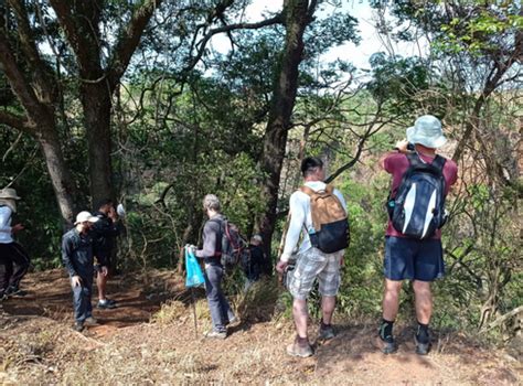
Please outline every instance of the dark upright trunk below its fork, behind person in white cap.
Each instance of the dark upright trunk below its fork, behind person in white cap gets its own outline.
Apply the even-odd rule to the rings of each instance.
[[[110,164],[110,92],[106,82],[84,84],[82,105],[88,146],[90,197],[93,206],[114,199]]]

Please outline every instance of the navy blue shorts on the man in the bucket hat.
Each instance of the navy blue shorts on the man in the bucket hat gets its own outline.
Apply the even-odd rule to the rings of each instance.
[[[434,281],[444,277],[441,240],[387,236],[383,272],[389,280]]]

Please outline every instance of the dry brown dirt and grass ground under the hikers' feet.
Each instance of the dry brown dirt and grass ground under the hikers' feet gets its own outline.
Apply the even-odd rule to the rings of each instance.
[[[375,323],[335,320],[329,342],[310,339],[316,355],[285,353],[292,324],[267,304],[230,329],[224,341],[202,336],[209,311],[196,292],[198,333],[191,296],[180,278],[156,271],[109,282],[114,310],[94,309],[99,325],[72,330],[72,297],[63,270],[31,274],[29,293],[0,305],[0,384],[311,384],[512,385],[522,384],[521,356],[458,333],[435,332],[428,356],[414,353],[413,330],[399,326],[399,352],[375,346]],[[95,301],[95,299],[93,299]],[[271,309],[274,310],[274,302]],[[239,309],[238,309],[239,312]],[[242,311],[243,312],[243,311]]]

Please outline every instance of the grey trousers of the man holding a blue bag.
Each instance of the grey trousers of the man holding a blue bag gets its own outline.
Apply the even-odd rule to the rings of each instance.
[[[213,330],[225,332],[228,321],[234,318],[233,310],[222,292],[223,267],[205,265],[205,293],[213,321]]]

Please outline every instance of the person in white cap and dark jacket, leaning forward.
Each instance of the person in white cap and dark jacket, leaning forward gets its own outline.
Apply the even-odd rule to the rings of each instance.
[[[93,293],[94,254],[93,237],[89,233],[98,217],[89,212],[76,216],[74,228],[62,238],[62,261],[67,269],[73,289],[74,329],[84,330],[84,325],[95,325],[90,297]],[[107,266],[102,262],[102,274],[107,275]]]

